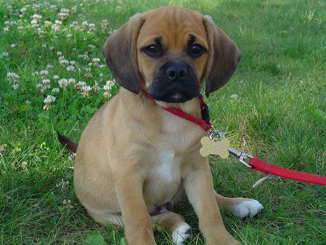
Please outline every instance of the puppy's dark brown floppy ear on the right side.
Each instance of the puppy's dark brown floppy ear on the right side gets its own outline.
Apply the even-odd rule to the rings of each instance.
[[[235,43],[218,27],[208,15],[203,17],[207,32],[208,60],[206,66],[205,94],[218,90],[231,78],[241,54]]]

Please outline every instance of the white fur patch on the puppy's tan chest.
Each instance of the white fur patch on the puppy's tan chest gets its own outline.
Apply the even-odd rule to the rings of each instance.
[[[164,181],[180,179],[181,158],[172,152],[159,152],[158,164],[155,168],[157,175]]]

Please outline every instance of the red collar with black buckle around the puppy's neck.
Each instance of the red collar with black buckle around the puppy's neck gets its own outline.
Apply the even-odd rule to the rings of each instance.
[[[150,99],[151,101],[154,101],[153,97],[150,95],[150,93],[148,91],[146,91],[144,89],[144,92],[146,93],[148,99]],[[199,97],[199,106],[202,111],[202,115],[206,120],[203,120],[203,119],[193,116],[191,114],[185,113],[184,111],[181,111],[178,108],[173,108],[173,107],[165,108],[160,105],[158,105],[158,106],[176,116],[179,116],[186,120],[192,121],[195,124],[199,125],[203,130],[208,131],[212,125],[211,122],[209,121],[208,107],[203,100],[203,96],[200,94],[198,97]],[[203,114],[203,111],[204,111],[205,116]]]

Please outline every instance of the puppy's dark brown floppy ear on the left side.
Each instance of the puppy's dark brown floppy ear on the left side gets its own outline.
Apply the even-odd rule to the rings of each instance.
[[[145,22],[143,14],[135,14],[108,37],[102,53],[116,82],[131,92],[139,92],[137,39]]]

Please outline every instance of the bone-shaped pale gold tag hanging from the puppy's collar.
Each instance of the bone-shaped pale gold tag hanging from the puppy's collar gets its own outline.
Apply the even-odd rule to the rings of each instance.
[[[209,154],[220,155],[221,158],[225,159],[229,156],[228,147],[230,142],[228,139],[222,140],[211,140],[207,136],[203,137],[200,141],[203,147],[200,149],[200,155],[207,157]]]

